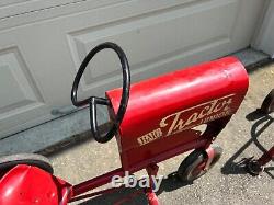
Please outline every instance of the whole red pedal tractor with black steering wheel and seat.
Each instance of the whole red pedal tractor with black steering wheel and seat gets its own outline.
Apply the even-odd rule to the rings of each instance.
[[[105,98],[90,96],[79,101],[80,79],[92,57],[102,49],[113,49],[121,61],[123,87],[110,90]],[[11,156],[0,161],[0,204],[65,205],[119,187],[87,193],[146,169],[149,186],[144,189],[149,204],[158,204],[152,176],[158,162],[194,149],[181,163],[178,175],[193,181],[206,173],[219,159],[221,149],[210,146],[240,106],[247,90],[248,75],[235,57],[226,57],[178,70],[130,86],[125,53],[113,43],[93,48],[81,64],[71,90],[76,106],[90,105],[91,132],[99,143],[114,136],[122,167],[77,185],[53,175],[53,169],[41,156]],[[110,130],[102,135],[96,123],[96,105],[107,106]],[[195,127],[206,125],[204,132]]]

